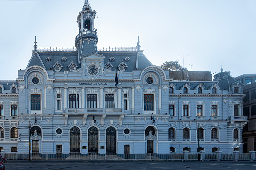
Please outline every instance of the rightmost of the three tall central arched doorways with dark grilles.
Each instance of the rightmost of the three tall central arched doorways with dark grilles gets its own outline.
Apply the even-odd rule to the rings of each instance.
[[[116,129],[114,127],[106,129],[106,153],[116,153]]]

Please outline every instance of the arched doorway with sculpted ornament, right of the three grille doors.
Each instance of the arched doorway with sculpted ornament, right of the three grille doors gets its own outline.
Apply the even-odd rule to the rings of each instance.
[[[147,140],[147,153],[154,153],[154,140],[156,140],[155,129],[152,126],[148,126],[145,130]]]

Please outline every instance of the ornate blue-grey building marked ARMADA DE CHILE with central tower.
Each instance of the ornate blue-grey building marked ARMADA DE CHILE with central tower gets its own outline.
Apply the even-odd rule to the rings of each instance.
[[[199,128],[200,150],[242,152],[247,117],[239,81],[223,70],[213,81],[174,80],[139,41],[136,48],[97,48],[95,14],[86,0],[75,48],[35,42],[16,81],[1,81],[2,150],[26,153],[31,143],[33,153],[196,153]]]

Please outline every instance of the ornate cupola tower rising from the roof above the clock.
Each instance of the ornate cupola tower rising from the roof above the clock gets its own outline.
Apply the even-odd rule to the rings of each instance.
[[[92,10],[88,0],[84,3],[82,11],[77,17],[79,34],[75,38],[75,46],[78,51],[78,65],[81,64],[82,56],[97,52],[97,29],[94,28],[96,11]]]

